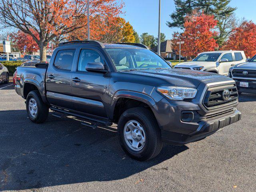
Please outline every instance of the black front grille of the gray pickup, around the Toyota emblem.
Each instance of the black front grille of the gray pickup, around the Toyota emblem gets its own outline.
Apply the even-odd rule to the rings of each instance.
[[[229,90],[229,98],[224,99],[224,90]],[[238,91],[235,84],[209,87],[204,96],[203,105],[207,110],[229,106],[238,102]]]

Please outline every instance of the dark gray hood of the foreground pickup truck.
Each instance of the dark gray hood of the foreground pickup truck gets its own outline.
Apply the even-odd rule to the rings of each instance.
[[[196,88],[200,83],[208,84],[213,82],[221,82],[232,80],[229,77],[203,71],[195,71],[189,69],[143,69],[124,71],[122,73],[129,73],[141,76],[148,76],[146,78],[134,77],[138,82],[150,82],[154,86],[170,85]],[[142,82],[143,81],[143,82]]]

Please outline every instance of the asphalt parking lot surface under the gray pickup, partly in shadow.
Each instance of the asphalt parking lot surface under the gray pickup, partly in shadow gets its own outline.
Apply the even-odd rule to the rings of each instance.
[[[238,110],[236,124],[138,162],[120,148],[116,127],[52,115],[33,124],[14,86],[0,84],[0,191],[255,192],[256,95],[242,94]]]

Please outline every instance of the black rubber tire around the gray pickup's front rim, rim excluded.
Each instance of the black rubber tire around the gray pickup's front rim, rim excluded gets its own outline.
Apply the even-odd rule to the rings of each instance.
[[[140,123],[146,134],[144,147],[139,151],[132,150],[127,145],[124,138],[124,127],[130,120],[135,120]],[[160,128],[154,114],[146,108],[137,107],[126,110],[119,118],[117,132],[120,145],[124,152],[136,160],[150,160],[157,156],[162,150],[163,142]]]

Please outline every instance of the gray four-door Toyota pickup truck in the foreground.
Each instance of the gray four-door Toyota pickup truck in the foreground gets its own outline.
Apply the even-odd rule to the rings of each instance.
[[[34,123],[76,116],[96,128],[118,124],[124,151],[137,160],[158,155],[163,142],[184,145],[241,118],[229,77],[172,69],[142,44],[61,43],[50,64],[18,67],[16,92]]]

